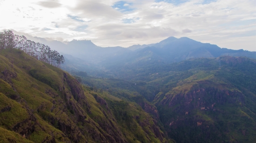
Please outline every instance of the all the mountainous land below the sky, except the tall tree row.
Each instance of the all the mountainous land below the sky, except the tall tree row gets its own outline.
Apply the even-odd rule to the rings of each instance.
[[[4,143],[256,142],[256,52],[187,37],[43,44],[63,53],[66,71],[0,50]]]

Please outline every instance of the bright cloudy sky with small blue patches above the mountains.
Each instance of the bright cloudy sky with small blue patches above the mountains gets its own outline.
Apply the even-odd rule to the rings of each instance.
[[[256,0],[0,0],[0,31],[101,47],[189,37],[256,51]]]

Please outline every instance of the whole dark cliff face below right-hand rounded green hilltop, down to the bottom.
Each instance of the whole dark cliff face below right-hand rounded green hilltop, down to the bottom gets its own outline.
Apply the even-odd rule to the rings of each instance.
[[[256,116],[248,110],[253,104],[236,88],[199,81],[186,92],[166,93],[157,107],[178,142],[243,143],[255,139]]]

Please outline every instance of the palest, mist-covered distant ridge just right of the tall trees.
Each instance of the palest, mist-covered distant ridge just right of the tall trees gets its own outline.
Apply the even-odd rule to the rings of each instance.
[[[45,38],[35,37],[35,42],[48,45],[52,50],[57,50],[61,53],[72,55],[74,57],[85,60],[88,63],[96,64],[104,61],[109,57],[120,56],[131,52],[123,47],[99,47],[91,42],[91,40],[72,40],[65,44],[56,40],[47,40]]]

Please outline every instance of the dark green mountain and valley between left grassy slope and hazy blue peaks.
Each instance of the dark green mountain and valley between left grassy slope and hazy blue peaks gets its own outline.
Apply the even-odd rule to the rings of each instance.
[[[125,80],[81,81],[139,105],[139,96],[128,93],[143,96],[177,143],[256,142],[256,59],[220,56],[129,66],[115,68],[115,77]]]

